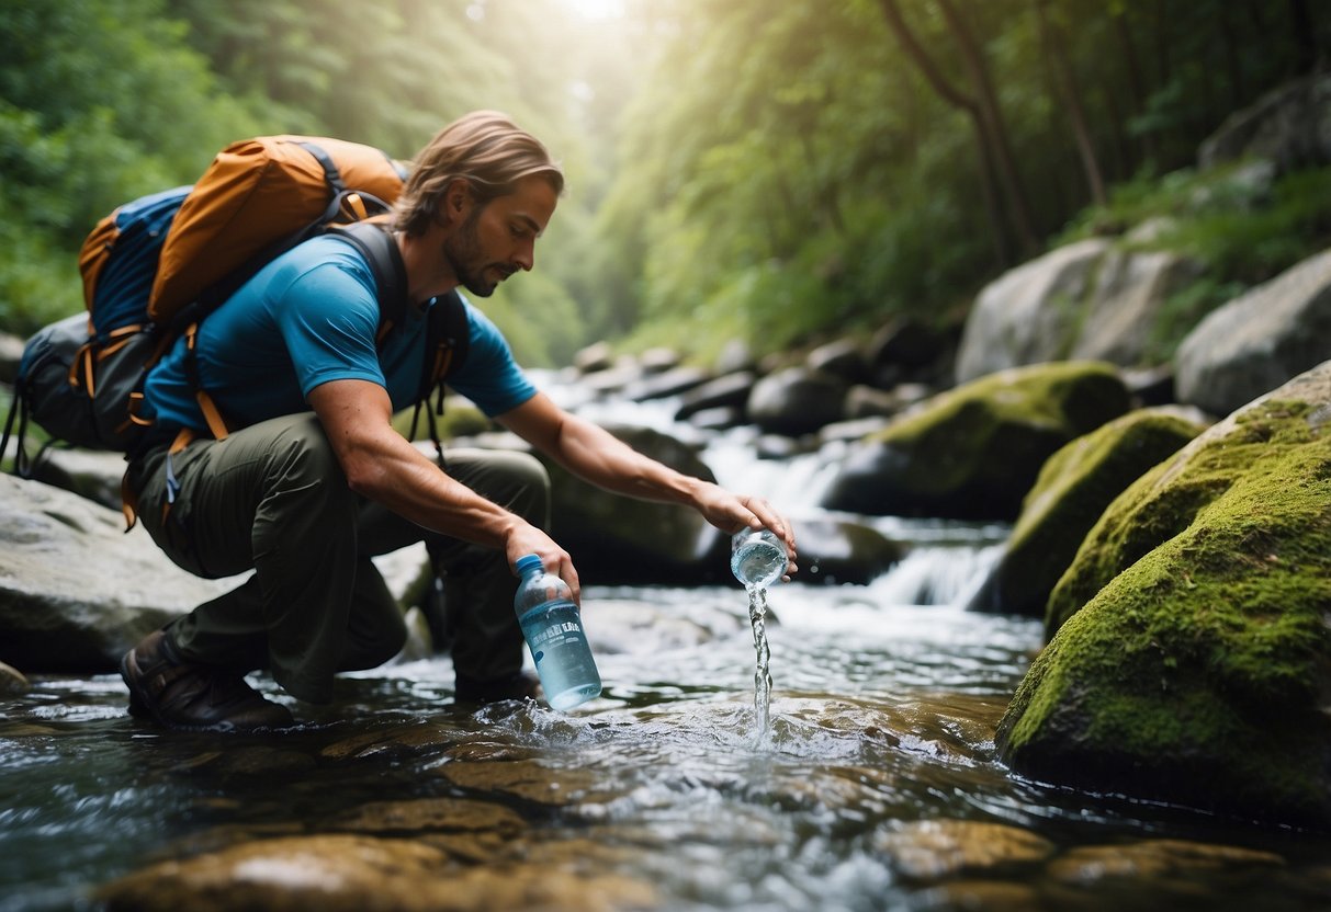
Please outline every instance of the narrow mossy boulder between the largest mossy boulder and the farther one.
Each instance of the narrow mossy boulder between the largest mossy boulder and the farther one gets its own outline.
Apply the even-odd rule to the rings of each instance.
[[[1173,411],[1143,408],[1050,456],[1022,501],[985,604],[973,608],[1042,617],[1054,584],[1110,501],[1203,429]]]

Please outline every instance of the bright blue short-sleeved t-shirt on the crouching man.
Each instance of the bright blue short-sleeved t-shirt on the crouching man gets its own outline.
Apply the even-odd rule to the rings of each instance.
[[[498,327],[466,298],[463,306],[467,359],[449,386],[486,415],[502,415],[536,388]],[[233,428],[309,411],[306,396],[329,380],[377,383],[394,411],[407,408],[419,390],[427,326],[423,311],[407,310],[406,326],[377,347],[379,302],[370,265],[347,241],[314,238],[260,270],[200,324],[200,384]],[[185,339],[177,340],[148,375],[144,413],[162,429],[206,432],[185,352]]]

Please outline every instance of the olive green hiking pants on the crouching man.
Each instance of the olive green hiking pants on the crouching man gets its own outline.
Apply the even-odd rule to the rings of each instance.
[[[550,479],[526,453],[450,449],[449,475],[548,528]],[[178,485],[164,518],[169,479]],[[129,469],[138,516],[173,562],[201,577],[253,570],[244,584],[168,626],[182,658],[268,669],[290,694],[331,698],[337,671],[369,669],[406,641],[402,609],[370,561],[425,541],[446,580],[459,677],[522,667],[516,580],[502,550],[450,538],[353,493],[313,413],[273,419],[225,440],[196,440]]]

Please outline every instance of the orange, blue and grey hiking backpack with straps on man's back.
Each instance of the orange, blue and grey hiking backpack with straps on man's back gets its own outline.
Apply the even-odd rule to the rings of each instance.
[[[24,347],[15,401],[0,457],[17,417],[15,468],[31,476],[24,436],[29,417],[53,440],[133,455],[150,421],[138,415],[148,371],[181,336],[225,302],[265,263],[297,243],[341,231],[371,266],[379,298],[379,340],[405,319],[406,275],[383,229],[405,174],[371,146],[331,138],[258,137],[234,142],[193,186],[164,190],[120,206],[89,233],[79,257],[85,314],[40,330]],[[435,449],[434,415],[443,383],[466,358],[467,316],[450,292],[430,308],[422,404]],[[196,383],[196,386],[198,386]],[[214,436],[225,420],[196,390]]]

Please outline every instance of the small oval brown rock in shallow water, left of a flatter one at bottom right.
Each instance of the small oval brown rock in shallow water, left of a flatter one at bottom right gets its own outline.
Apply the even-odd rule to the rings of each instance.
[[[908,880],[944,880],[1034,867],[1054,844],[1026,830],[977,820],[920,820],[878,834],[874,847]]]

